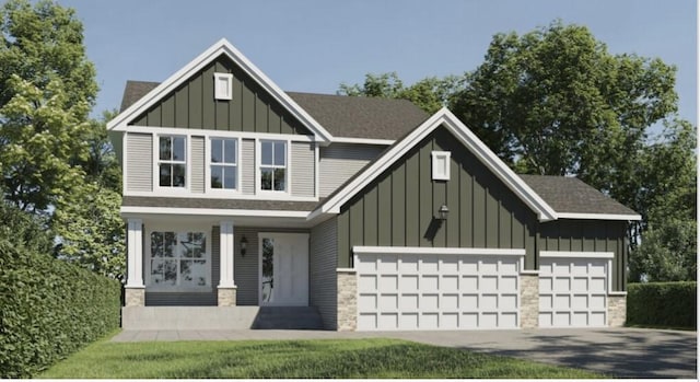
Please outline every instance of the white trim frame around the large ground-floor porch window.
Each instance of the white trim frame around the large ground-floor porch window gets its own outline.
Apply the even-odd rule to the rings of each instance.
[[[148,225],[147,225],[148,227]],[[188,232],[203,232],[206,235],[206,240],[207,240],[207,248],[205,251],[205,258],[207,259],[207,275],[209,276],[209,278],[207,279],[207,285],[203,287],[180,287],[180,286],[175,286],[175,287],[162,287],[162,286],[154,286],[151,282],[151,261],[153,259],[153,254],[151,253],[151,233],[153,232],[175,232],[176,234],[179,233],[188,233]],[[208,227],[196,227],[196,225],[182,225],[182,224],[176,224],[176,225],[166,225],[166,224],[158,224],[158,225],[151,225],[148,227],[148,229],[145,230],[145,238],[144,238],[144,244],[143,245],[143,262],[144,264],[144,271],[143,271],[143,283],[145,285],[145,290],[148,292],[211,292],[212,291],[212,275],[211,275],[211,266],[212,266],[212,262],[213,262],[213,256],[211,255],[211,229]],[[174,257],[177,258],[178,261],[180,259],[180,257]]]

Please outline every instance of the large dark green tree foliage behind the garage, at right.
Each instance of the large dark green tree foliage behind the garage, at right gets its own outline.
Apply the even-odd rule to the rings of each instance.
[[[576,176],[641,213],[628,232],[631,280],[695,279],[697,131],[675,118],[675,77],[661,59],[612,55],[585,26],[555,21],[494,35],[463,78],[406,86],[396,73],[368,74],[339,93],[406,99],[428,113],[447,104],[515,172]],[[664,262],[676,270],[651,265]]]

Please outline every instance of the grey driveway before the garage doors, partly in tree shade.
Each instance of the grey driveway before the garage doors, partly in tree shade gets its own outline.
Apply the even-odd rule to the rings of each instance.
[[[620,378],[697,379],[697,332],[639,328],[404,332],[390,337]]]

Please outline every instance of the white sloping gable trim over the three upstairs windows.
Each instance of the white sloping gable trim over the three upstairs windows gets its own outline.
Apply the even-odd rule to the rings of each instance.
[[[119,113],[114,119],[107,123],[108,130],[122,131],[127,129],[127,121],[137,115],[145,112],[149,107],[159,102],[165,94],[179,86],[185,80],[194,73],[210,63],[221,54],[226,54],[243,71],[253,77],[262,89],[282,104],[293,116],[299,118],[303,125],[308,127],[317,137],[316,141],[322,144],[329,144],[332,136],[320,124],[314,119],[306,111],[304,111],[296,102],[294,102],[284,91],[282,91],[272,80],[270,80],[260,69],[258,69],[250,60],[248,60],[238,49],[236,49],[225,38],[220,39],[214,45],[197,56],[194,60],[183,67],[180,70],[163,81],[155,89],[145,94],[141,100],[129,106],[126,111]]]

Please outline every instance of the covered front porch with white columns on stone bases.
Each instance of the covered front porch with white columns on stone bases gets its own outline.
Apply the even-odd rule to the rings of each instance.
[[[292,326],[319,320],[310,306],[306,213],[248,212],[125,217],[122,327],[252,328],[280,314],[296,316]]]

